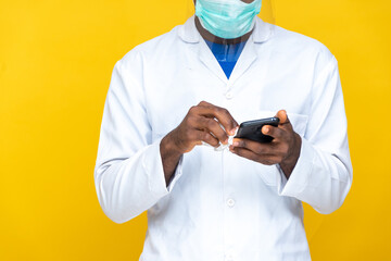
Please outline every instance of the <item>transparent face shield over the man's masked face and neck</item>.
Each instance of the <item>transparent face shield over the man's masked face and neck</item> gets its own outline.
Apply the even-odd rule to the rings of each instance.
[[[195,16],[202,37],[214,44],[231,45],[245,41],[255,16],[275,24],[274,0],[187,0],[188,14]]]

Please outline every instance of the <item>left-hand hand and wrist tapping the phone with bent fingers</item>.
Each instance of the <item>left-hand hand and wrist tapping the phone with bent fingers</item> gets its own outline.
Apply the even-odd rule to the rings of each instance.
[[[224,108],[206,101],[201,101],[198,105],[190,108],[179,126],[161,141],[166,183],[168,184],[181,154],[191,151],[202,141],[213,147],[218,147],[219,142],[227,144],[228,135],[234,135],[238,126],[231,114]]]

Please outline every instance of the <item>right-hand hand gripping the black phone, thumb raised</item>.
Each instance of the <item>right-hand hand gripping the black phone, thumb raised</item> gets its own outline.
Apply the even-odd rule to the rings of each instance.
[[[283,174],[289,178],[301,150],[301,137],[293,130],[287,112],[280,110],[276,116],[280,120],[277,127],[265,125],[262,133],[274,137],[272,142],[261,144],[250,139],[235,138],[229,150],[240,157],[265,165],[279,164]]]

